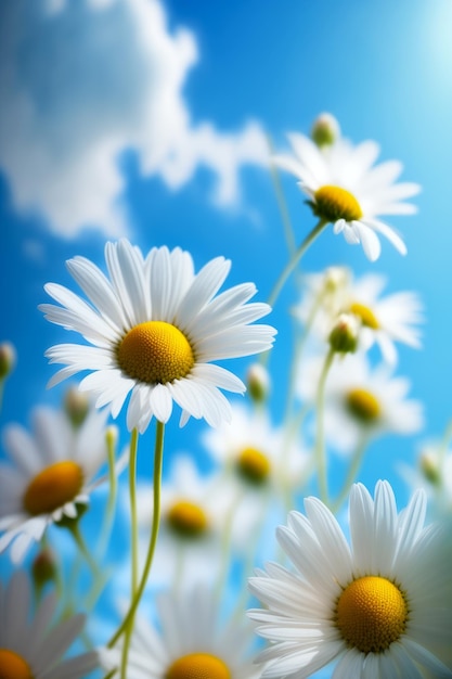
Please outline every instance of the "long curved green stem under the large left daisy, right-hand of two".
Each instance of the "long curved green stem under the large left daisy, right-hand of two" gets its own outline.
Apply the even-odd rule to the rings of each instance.
[[[165,433],[165,425],[162,422],[157,421],[157,428],[156,428],[156,436],[155,436],[155,450],[154,450],[154,510],[153,510],[154,513],[152,517],[151,539],[150,539],[150,545],[147,548],[147,554],[146,554],[146,560],[144,563],[143,573],[142,573],[139,586],[137,588],[135,594],[126,614],[126,617],[124,618],[122,623],[119,625],[118,629],[113,635],[111,640],[108,641],[108,644],[107,644],[108,648],[112,648],[117,642],[119,637],[126,631],[126,629],[132,624],[133,616],[140,603],[140,600],[143,594],[144,588],[146,586],[147,577],[151,571],[155,546],[157,542],[158,526],[160,523],[160,486],[162,486],[162,465],[163,465],[163,454],[164,454],[164,433]]]

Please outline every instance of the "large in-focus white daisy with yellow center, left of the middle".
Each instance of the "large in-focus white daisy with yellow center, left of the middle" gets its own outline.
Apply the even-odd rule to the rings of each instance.
[[[41,305],[50,321],[80,333],[93,346],[51,347],[51,363],[64,363],[50,382],[56,384],[89,370],[80,389],[109,406],[116,418],[131,394],[129,430],[144,432],[153,415],[167,422],[172,401],[182,408],[181,424],[190,415],[217,425],[229,417],[220,392],[243,393],[234,374],[211,361],[264,351],[275,330],[251,325],[270,311],[267,304],[247,304],[251,283],[217,295],[231,262],[217,257],[197,274],[189,253],[179,247],[154,247],[146,258],[127,240],[106,243],[108,280],[85,257],[67,262],[69,272],[90,304],[61,285],[46,291],[62,306]]]

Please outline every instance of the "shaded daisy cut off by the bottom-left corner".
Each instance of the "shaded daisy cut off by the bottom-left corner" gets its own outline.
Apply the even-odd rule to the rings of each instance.
[[[33,607],[27,575],[17,571],[7,588],[0,582],[0,677],[2,679],[82,679],[105,663],[106,652],[89,651],[62,659],[85,625],[78,614],[51,627],[56,594],[50,592],[29,620]]]

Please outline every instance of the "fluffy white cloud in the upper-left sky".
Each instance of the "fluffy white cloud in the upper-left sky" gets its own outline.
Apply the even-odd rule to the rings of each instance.
[[[169,31],[158,0],[14,0],[0,26],[0,169],[16,209],[54,232],[125,232],[125,150],[173,189],[209,168],[220,205],[237,201],[242,165],[266,163],[257,123],[193,124],[183,87],[196,41]]]

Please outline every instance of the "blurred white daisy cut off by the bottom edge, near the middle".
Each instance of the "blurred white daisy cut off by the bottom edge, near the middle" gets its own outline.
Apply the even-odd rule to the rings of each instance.
[[[251,628],[237,620],[221,628],[218,600],[206,587],[157,598],[158,628],[138,616],[128,656],[128,679],[251,679]],[[158,629],[158,631],[157,631]]]

